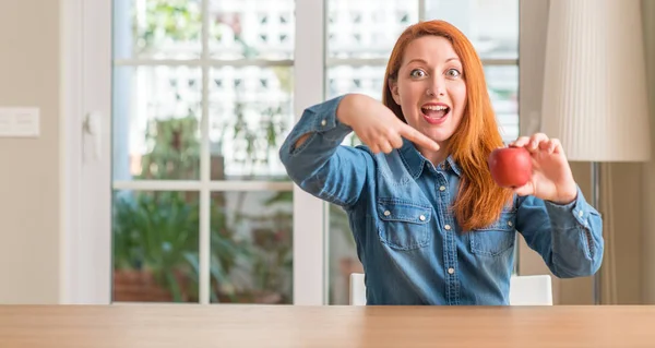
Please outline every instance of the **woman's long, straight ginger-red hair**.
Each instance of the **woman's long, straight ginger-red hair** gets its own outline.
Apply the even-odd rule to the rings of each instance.
[[[382,103],[398,119],[407,122],[401,106],[392,97],[391,83],[397,80],[407,45],[427,35],[441,36],[450,40],[462,61],[466,83],[466,108],[460,125],[445,147],[448,154],[462,169],[457,199],[452,209],[464,231],[483,228],[499,218],[503,207],[511,203],[513,193],[512,190],[501,188],[493,182],[487,166],[487,158],[491,151],[502,146],[503,143],[487,92],[483,63],[466,36],[443,21],[419,22],[407,27],[391,52],[384,74]]]

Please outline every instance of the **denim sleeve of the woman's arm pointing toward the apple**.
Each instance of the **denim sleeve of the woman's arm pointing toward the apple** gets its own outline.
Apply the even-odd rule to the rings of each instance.
[[[279,148],[279,158],[303,191],[347,207],[358,201],[373,159],[364,147],[342,145],[353,131],[336,118],[342,99],[340,96],[305,109]],[[309,137],[296,148],[296,142],[308,133]]]

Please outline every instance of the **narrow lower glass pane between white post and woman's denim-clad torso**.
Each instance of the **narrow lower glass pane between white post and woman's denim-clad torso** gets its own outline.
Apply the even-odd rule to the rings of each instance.
[[[364,273],[348,217],[343,208],[330,205],[330,304],[348,304],[350,274]]]

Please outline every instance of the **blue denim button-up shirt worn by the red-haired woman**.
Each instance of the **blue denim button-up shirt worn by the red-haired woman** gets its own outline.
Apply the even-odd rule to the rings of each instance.
[[[347,213],[368,304],[508,304],[516,231],[558,277],[600,266],[602,218],[580,188],[568,205],[516,195],[496,223],[463,231],[449,212],[457,164],[433,166],[407,140],[389,155],[341,145],[352,132],[336,119],[342,98],[306,109],[279,155],[296,184]]]

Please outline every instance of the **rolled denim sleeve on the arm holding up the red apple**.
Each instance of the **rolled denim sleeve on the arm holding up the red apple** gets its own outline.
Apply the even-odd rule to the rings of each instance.
[[[584,199],[561,205],[534,196],[520,197],[516,229],[560,278],[590,276],[600,267],[603,219]]]

